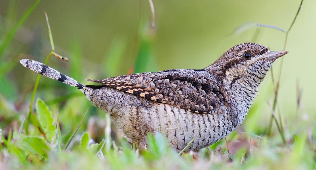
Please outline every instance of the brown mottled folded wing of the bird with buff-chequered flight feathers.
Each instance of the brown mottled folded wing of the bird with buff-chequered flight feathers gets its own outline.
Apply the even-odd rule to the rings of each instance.
[[[184,69],[88,80],[191,112],[214,113],[224,97],[216,82]]]

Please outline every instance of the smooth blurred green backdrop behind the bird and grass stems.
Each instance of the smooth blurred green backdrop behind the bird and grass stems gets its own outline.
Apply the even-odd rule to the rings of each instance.
[[[0,39],[33,3],[31,0],[0,1]],[[202,69],[225,51],[243,42],[255,42],[271,51],[282,51],[285,33],[256,23],[288,30],[301,1],[153,1],[155,28],[151,28],[148,1],[62,1],[42,0],[27,17],[5,49],[0,65],[1,118],[27,115],[37,73],[24,68],[23,58],[44,63],[51,51],[44,11],[47,12],[56,53],[69,58],[64,62],[51,57],[50,67],[85,85],[85,79],[103,79],[138,72],[167,69]],[[313,129],[315,118],[315,46],[316,1],[305,0],[289,32],[284,56],[278,106],[287,137],[303,125]],[[257,36],[256,36],[257,35]],[[1,42],[0,41],[0,42]],[[275,79],[281,59],[273,65]],[[7,70],[7,71],[6,71]],[[271,73],[259,87],[243,131],[266,133],[273,102]],[[297,84],[302,89],[301,107],[297,109]],[[68,132],[82,118],[104,118],[104,112],[93,107],[76,88],[42,76],[35,99],[40,97],[56,114],[60,109],[63,131]],[[278,110],[278,109],[277,109]],[[299,111],[297,111],[299,110]],[[14,120],[13,118],[11,120]],[[10,121],[2,121],[5,129]],[[85,120],[87,128],[88,119]],[[75,125],[76,126],[76,125]],[[62,131],[62,133],[63,133]],[[273,133],[278,132],[275,125]],[[280,138],[276,138],[280,141]]]

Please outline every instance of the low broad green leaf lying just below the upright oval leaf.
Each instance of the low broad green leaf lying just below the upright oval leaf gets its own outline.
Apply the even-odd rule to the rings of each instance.
[[[51,146],[45,139],[38,137],[24,137],[22,138],[22,145],[25,147],[26,153],[30,152],[38,155],[39,159],[48,158],[48,151],[52,150]]]

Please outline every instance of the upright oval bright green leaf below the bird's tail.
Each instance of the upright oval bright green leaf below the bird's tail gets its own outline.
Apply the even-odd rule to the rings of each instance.
[[[37,98],[36,101],[36,111],[43,131],[46,134],[46,138],[52,141],[52,138],[56,134],[56,127],[53,125],[54,119],[52,118],[52,112],[40,98]]]

